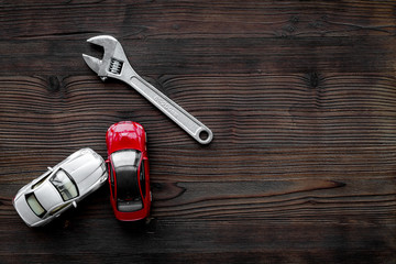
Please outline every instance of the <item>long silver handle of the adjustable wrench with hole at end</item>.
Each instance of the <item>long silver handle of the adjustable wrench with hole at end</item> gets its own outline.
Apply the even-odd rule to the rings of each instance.
[[[148,101],[156,106],[163,113],[177,123],[188,134],[201,144],[208,144],[213,139],[213,133],[198,119],[184,110],[176,102],[162,94],[139,75],[132,75],[127,81]]]

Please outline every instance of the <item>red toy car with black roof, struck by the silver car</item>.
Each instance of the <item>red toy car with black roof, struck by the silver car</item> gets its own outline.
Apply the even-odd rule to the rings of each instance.
[[[150,213],[146,133],[136,122],[122,121],[106,134],[108,148],[110,201],[121,221],[144,219]]]

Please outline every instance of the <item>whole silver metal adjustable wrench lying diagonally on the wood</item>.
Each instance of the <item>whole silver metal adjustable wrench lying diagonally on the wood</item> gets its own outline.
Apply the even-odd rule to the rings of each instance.
[[[87,42],[105,48],[102,59],[82,54],[88,66],[97,73],[103,81],[108,77],[111,77],[127,82],[189,133],[196,141],[201,144],[211,142],[213,133],[210,129],[162,94],[158,89],[145,81],[133,70],[121,44],[114,37],[99,35],[89,38]]]

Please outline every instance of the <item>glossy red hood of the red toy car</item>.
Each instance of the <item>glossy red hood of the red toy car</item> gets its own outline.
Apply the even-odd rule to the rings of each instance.
[[[106,134],[108,154],[127,148],[145,151],[145,132],[141,124],[122,121],[111,125]]]

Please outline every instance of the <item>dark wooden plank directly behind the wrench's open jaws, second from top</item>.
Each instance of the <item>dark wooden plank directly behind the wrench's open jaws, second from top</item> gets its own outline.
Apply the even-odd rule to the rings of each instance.
[[[19,50],[2,56],[2,75],[88,76],[92,72],[81,54],[102,56],[86,43],[94,35],[62,41],[0,41],[2,51]],[[119,40],[134,69],[154,79],[201,74],[395,73],[396,48],[388,36]]]

